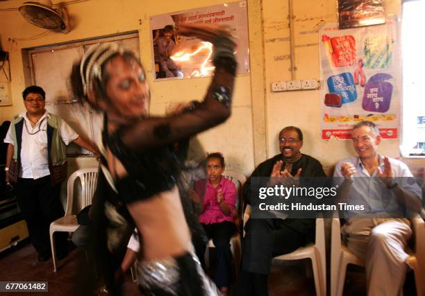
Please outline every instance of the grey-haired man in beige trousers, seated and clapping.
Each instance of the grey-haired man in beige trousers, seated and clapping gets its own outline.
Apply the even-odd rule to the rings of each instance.
[[[338,202],[362,210],[346,211],[342,235],[365,262],[367,295],[400,295],[412,236],[406,210],[422,210],[421,189],[406,164],[378,154],[381,136],[374,123],[357,123],[351,137],[358,157],[338,162],[334,177],[340,180]]]

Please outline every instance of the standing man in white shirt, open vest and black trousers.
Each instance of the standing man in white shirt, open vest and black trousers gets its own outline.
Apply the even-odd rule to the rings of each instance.
[[[4,139],[9,144],[6,184],[15,182],[17,201],[38,252],[38,261],[47,261],[51,256],[49,225],[64,215],[59,194],[60,182],[66,178],[67,171],[65,145],[73,142],[95,155],[99,151],[60,117],[44,109],[45,93],[41,87],[27,87],[22,96],[26,112],[12,119]],[[56,239],[60,259],[67,253],[66,234],[57,236],[60,236]]]

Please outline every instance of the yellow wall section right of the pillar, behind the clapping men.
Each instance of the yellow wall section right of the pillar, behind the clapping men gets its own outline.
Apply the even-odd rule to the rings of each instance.
[[[399,13],[399,0],[388,0],[386,12]],[[295,79],[319,79],[319,37],[321,22],[335,23],[337,1],[293,0]],[[331,166],[347,155],[355,154],[350,141],[322,141],[320,132],[321,107],[319,91],[278,92],[270,91],[271,82],[291,80],[290,42],[279,41],[289,34],[288,1],[263,1],[265,40],[265,85],[267,101],[267,147],[269,155],[278,153],[278,130],[285,125],[297,125],[304,133],[303,152],[319,159],[324,166]],[[284,60],[275,59],[279,56]],[[286,57],[285,57],[286,56]],[[380,152],[399,157],[399,141],[384,141]]]

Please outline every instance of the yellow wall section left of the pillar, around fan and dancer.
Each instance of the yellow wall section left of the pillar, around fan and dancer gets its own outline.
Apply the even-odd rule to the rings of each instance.
[[[151,84],[153,114],[163,113],[170,103],[201,100],[206,93],[210,78],[152,82],[151,40],[149,17],[167,12],[210,6],[220,1],[138,1],[138,0],[91,0],[67,6],[72,23],[68,34],[48,33],[33,40],[22,40],[44,32],[25,21],[19,11],[1,11],[2,8],[17,8],[23,1],[0,3],[0,36],[4,51],[10,52],[12,70],[12,101],[10,107],[0,107],[0,121],[8,120],[24,109],[22,90],[25,88],[21,49],[34,46],[72,42],[84,38],[99,37],[113,33],[139,31],[140,57]],[[58,1],[53,1],[57,3]],[[17,40],[16,42],[10,42]],[[153,71],[154,72],[154,71]],[[224,125],[209,130],[199,137],[206,151],[222,151],[228,168],[248,174],[253,169],[253,143],[251,123],[251,76],[239,76],[236,81],[233,115]],[[228,132],[228,131],[231,132]],[[242,145],[243,143],[243,145]]]

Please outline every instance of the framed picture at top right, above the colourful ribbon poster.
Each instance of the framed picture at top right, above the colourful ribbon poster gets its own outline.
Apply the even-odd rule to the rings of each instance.
[[[338,0],[340,28],[385,23],[385,0]]]

